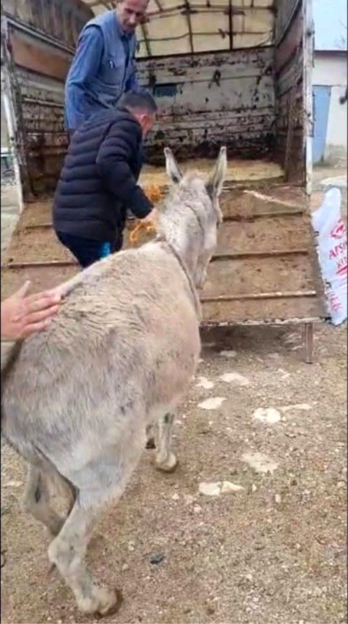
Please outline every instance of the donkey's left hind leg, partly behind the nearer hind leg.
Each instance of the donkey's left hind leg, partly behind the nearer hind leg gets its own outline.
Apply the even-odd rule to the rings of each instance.
[[[27,474],[24,508],[36,520],[46,525],[52,535],[58,535],[65,522],[49,505],[48,479],[45,472],[37,466],[29,465]]]

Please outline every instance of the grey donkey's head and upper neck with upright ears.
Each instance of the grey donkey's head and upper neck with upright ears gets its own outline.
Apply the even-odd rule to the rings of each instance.
[[[197,288],[202,288],[222,223],[219,195],[226,175],[226,147],[221,147],[208,178],[194,172],[182,175],[171,150],[166,147],[164,154],[173,187],[164,202],[159,229],[185,261]]]

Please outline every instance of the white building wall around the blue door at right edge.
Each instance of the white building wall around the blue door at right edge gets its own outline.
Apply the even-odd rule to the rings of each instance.
[[[313,85],[331,86],[329,119],[327,122],[326,161],[347,158],[347,102],[339,99],[347,88],[347,53],[316,52],[312,74]]]

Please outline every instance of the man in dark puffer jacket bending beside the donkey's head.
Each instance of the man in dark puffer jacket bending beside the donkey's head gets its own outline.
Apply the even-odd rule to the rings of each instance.
[[[122,247],[127,208],[154,220],[137,184],[142,139],[154,125],[156,103],[146,92],[124,94],[74,132],[53,205],[57,238],[84,268]]]

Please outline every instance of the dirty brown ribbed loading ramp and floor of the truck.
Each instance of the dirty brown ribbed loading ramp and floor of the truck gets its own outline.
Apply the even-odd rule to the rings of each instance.
[[[187,168],[207,172],[213,165],[191,161]],[[161,168],[146,167],[141,183],[164,186],[167,178]],[[272,162],[232,161],[221,208],[224,223],[201,293],[204,323],[283,324],[324,318],[322,281],[302,188],[284,184],[281,168]],[[2,267],[2,297],[26,279],[38,290],[76,271],[74,258],[54,236],[51,200],[27,205]]]

